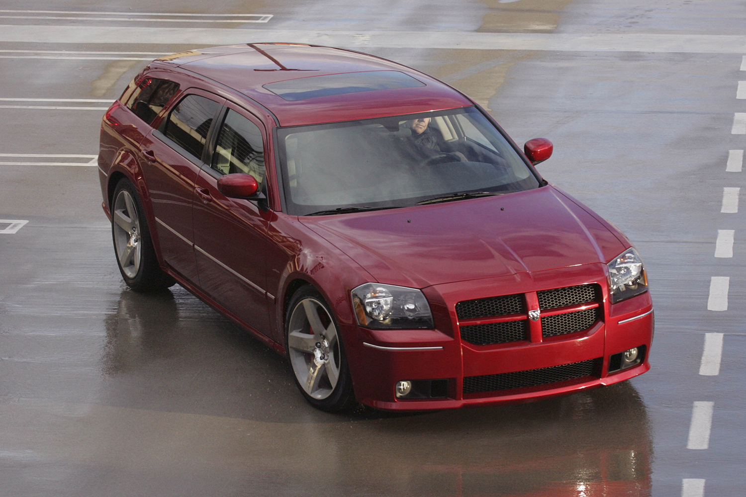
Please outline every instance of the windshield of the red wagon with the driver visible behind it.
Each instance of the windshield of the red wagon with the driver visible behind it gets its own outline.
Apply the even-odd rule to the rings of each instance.
[[[539,186],[474,107],[280,128],[278,144],[292,215],[390,209]]]

